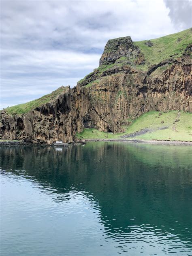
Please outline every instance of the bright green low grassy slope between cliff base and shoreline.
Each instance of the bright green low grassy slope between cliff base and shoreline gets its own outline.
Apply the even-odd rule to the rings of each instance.
[[[148,131],[146,132],[146,130]],[[139,131],[141,134],[137,134]],[[126,137],[130,134],[133,134],[133,136]],[[137,118],[122,134],[84,129],[83,132],[77,134],[77,137],[83,139],[192,141],[192,113],[150,111]]]

